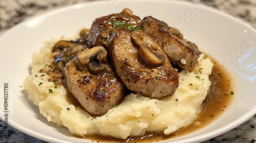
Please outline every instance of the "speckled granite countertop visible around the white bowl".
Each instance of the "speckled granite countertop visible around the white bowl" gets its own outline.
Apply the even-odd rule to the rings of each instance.
[[[76,3],[88,2],[90,0],[0,0],[0,35],[20,21],[35,14],[44,13],[51,9],[68,6]],[[224,13],[236,17],[252,28],[256,29],[256,1],[254,0],[217,0],[200,1],[187,0],[193,3],[204,3],[209,7],[214,7]],[[3,132],[4,123],[0,121],[0,132]],[[256,115],[244,124],[231,131],[206,142],[256,142]],[[0,134],[0,142],[4,136]],[[26,135],[9,126],[9,138],[4,142],[45,142]]]

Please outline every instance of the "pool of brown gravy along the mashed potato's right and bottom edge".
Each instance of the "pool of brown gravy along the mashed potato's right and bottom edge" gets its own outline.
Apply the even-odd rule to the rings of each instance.
[[[228,71],[215,59],[211,57],[209,58],[214,63],[212,73],[209,76],[211,86],[209,87],[206,99],[202,104],[202,112],[189,126],[168,136],[164,135],[162,132],[157,132],[146,133],[146,135],[141,137],[129,137],[126,140],[102,135],[87,135],[84,138],[95,142],[157,142],[160,140],[180,137],[209,125],[215,121],[216,118],[225,113],[225,110],[230,106],[234,97],[230,93],[233,90],[234,83],[232,82]],[[200,122],[200,126],[194,124],[196,122]]]

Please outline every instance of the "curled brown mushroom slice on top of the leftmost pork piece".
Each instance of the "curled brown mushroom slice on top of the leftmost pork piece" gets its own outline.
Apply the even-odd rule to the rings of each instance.
[[[94,72],[105,69],[104,62],[108,52],[103,46],[95,46],[92,49],[81,52],[77,56],[78,65],[88,65],[89,69]]]

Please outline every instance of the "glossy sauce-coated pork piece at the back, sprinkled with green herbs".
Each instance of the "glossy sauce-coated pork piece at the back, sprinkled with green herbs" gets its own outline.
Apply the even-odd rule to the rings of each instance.
[[[124,9],[121,13],[110,14],[99,17],[92,23],[91,30],[87,37],[90,46],[106,46],[110,36],[119,30],[133,29],[137,27],[141,19],[132,14],[129,9]]]

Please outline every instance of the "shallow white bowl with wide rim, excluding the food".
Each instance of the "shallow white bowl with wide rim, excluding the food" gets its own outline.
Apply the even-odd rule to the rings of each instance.
[[[199,48],[223,64],[236,79],[236,97],[216,121],[196,132],[159,142],[199,142],[223,134],[256,114],[256,31],[245,23],[204,4],[175,1],[104,1],[84,3],[37,16],[20,23],[0,37],[1,90],[8,83],[8,124],[49,142],[91,142],[77,138],[65,127],[47,122],[20,86],[30,75],[32,53],[44,42],[60,36],[74,36],[81,27],[90,28],[100,16],[130,8],[141,18],[152,15],[174,26]],[[3,91],[2,93],[3,94]],[[4,98],[0,99],[5,121]]]

